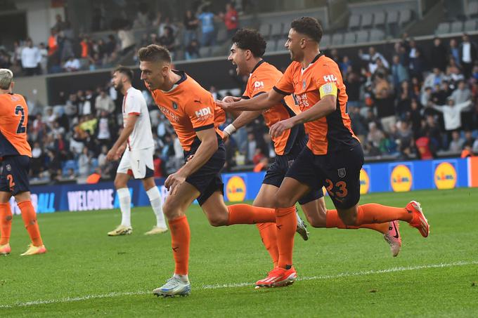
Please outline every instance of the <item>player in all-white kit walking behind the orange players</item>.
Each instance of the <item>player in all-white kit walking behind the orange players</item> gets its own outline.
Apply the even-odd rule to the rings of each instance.
[[[144,189],[156,215],[156,225],[153,230],[145,234],[157,234],[167,231],[162,213],[160,191],[155,185],[153,177],[153,154],[155,145],[148,106],[143,94],[131,86],[133,71],[128,67],[117,67],[113,72],[112,83],[117,91],[123,95],[123,131],[120,137],[108,152],[108,160],[117,160],[121,155],[120,166],[116,171],[115,187],[120,199],[122,213],[121,225],[108,232],[110,236],[131,234],[131,194],[127,186],[131,175],[143,181]]]

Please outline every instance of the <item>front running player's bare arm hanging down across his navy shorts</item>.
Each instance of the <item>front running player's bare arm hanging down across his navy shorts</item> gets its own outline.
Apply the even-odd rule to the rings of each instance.
[[[186,181],[189,175],[204,166],[207,161],[211,159],[214,152],[217,151],[217,135],[214,128],[197,131],[196,135],[198,135],[199,140],[201,140],[198,150],[179,171],[172,173],[167,177],[166,181],[164,181],[164,187],[166,187],[172,195],[176,193],[178,187]]]

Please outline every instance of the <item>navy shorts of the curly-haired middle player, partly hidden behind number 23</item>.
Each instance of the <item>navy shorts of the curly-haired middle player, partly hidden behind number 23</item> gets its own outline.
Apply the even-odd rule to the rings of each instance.
[[[283,154],[277,155],[273,164],[267,169],[266,175],[264,176],[263,184],[266,185],[275,185],[280,187],[280,184],[285,178],[290,166],[295,161],[297,154]],[[313,190],[305,194],[304,197],[299,199],[299,204],[306,204],[316,199],[323,197],[322,187],[313,187]]]

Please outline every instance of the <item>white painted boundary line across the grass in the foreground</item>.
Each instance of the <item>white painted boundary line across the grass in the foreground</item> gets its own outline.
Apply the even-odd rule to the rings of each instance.
[[[321,276],[313,276],[313,277],[300,277],[297,279],[298,281],[308,281],[308,280],[317,280],[317,279],[336,279],[342,277],[354,277],[354,276],[363,276],[363,275],[370,275],[370,274],[384,274],[384,273],[391,273],[391,272],[405,272],[408,270],[427,270],[429,268],[443,268],[443,267],[455,267],[455,266],[464,266],[464,265],[478,265],[478,260],[472,261],[459,261],[454,263],[440,263],[440,264],[429,264],[429,265],[418,265],[418,266],[401,266],[401,267],[392,267],[386,270],[366,270],[361,272],[342,272],[339,274],[331,274],[331,275],[321,275]],[[235,284],[224,284],[224,285],[202,285],[198,287],[198,289],[227,289],[227,288],[235,288],[235,287],[244,287],[244,286],[252,286],[253,283],[251,282],[244,282],[244,283],[235,283]],[[75,301],[83,301],[83,300],[90,300],[90,299],[101,299],[101,298],[114,298],[118,296],[137,296],[137,295],[146,295],[152,294],[151,291],[129,291],[129,292],[113,292],[113,293],[104,293],[101,295],[86,295],[86,296],[79,296],[79,297],[66,297],[66,298],[59,298],[59,299],[51,299],[51,300],[33,300],[28,301],[26,303],[14,303],[12,305],[0,305],[0,308],[13,308],[13,307],[28,307],[34,305],[49,305],[49,304],[56,304],[56,303],[72,303]]]

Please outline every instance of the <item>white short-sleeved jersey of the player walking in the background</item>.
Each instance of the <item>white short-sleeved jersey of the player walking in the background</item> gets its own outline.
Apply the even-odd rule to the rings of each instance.
[[[126,127],[130,114],[138,116],[134,129],[128,138],[130,151],[154,147],[153,133],[151,133],[151,122],[148,112],[148,105],[141,91],[130,87],[123,98],[123,126]]]

